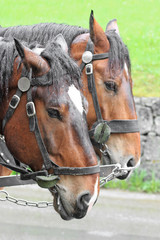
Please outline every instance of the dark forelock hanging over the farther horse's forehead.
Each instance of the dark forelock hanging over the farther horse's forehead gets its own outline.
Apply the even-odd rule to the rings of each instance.
[[[123,70],[125,63],[127,64],[129,73],[131,73],[131,62],[127,46],[115,30],[107,31],[106,36],[110,43],[108,64],[111,76],[115,77],[119,73],[119,70]]]

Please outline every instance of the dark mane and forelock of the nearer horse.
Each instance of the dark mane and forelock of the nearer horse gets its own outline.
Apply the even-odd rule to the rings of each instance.
[[[25,46],[27,44],[22,42]],[[30,46],[27,46],[30,47]],[[32,43],[32,48],[36,47],[36,43]],[[18,56],[18,52],[15,47],[15,43],[11,38],[3,38],[0,41],[0,102],[4,96],[8,95],[9,83],[12,80],[12,72],[14,60]],[[32,86],[46,86],[53,84],[55,90],[58,90],[60,86],[64,85],[64,81],[67,85],[74,84],[78,88],[81,88],[80,81],[80,69],[70,56],[65,53],[61,46],[52,41],[49,42],[41,53],[41,56],[45,58],[51,69],[42,77],[32,78]],[[28,74],[26,69],[23,69],[22,74]],[[27,75],[26,75],[27,76]]]

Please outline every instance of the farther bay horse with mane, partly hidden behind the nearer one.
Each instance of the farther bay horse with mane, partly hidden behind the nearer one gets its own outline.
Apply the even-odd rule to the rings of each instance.
[[[64,36],[71,57],[83,71],[82,91],[89,103],[87,113],[89,130],[96,129],[97,122],[102,121],[111,122],[116,128],[114,131],[111,129],[110,137],[105,137],[101,146],[92,139],[96,153],[104,164],[120,163],[123,168],[131,169],[140,163],[141,151],[140,133],[137,127],[131,126],[135,125],[137,115],[132,94],[129,52],[120,37],[116,20],[110,21],[104,32],[91,11],[89,27],[88,30],[65,24],[41,23],[0,28],[0,36],[14,36],[28,43],[36,41],[39,44],[46,44],[59,33]],[[89,56],[84,56],[86,51],[89,52]],[[85,58],[88,58],[89,62],[86,62]],[[83,70],[85,65],[86,71]],[[88,83],[87,71],[92,73],[92,78],[94,72],[94,91]],[[94,97],[93,92],[96,92]],[[125,179],[129,173],[130,170],[124,171],[118,178]]]

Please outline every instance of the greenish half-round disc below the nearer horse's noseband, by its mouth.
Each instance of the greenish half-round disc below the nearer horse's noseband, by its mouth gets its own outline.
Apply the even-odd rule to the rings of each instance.
[[[50,175],[50,176],[36,176],[36,182],[41,188],[51,188],[56,185],[59,177]]]

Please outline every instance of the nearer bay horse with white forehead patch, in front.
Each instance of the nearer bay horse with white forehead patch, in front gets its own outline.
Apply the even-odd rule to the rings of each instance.
[[[58,182],[49,190],[64,220],[84,217],[99,193],[80,88],[79,67],[61,36],[41,55],[16,39],[1,38],[0,134],[15,159],[34,173],[57,172]]]

